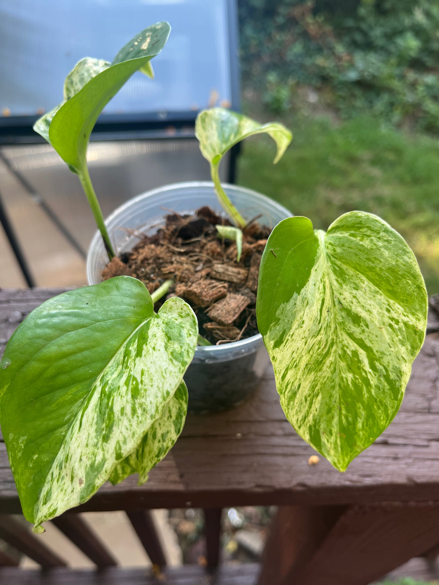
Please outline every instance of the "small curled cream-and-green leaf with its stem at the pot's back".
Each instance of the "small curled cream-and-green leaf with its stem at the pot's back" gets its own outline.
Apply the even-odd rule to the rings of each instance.
[[[195,135],[200,143],[201,154],[210,163],[212,181],[218,200],[227,212],[229,218],[238,225],[245,228],[246,221],[239,214],[238,209],[229,200],[219,181],[218,167],[221,159],[232,146],[241,142],[248,136],[266,133],[276,142],[277,153],[273,163],[277,163],[287,146],[293,139],[290,130],[277,122],[259,124],[242,114],[232,112],[224,108],[212,108],[203,110],[197,116],[195,123]]]

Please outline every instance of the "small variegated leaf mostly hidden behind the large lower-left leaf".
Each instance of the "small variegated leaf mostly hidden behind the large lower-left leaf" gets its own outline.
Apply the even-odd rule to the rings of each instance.
[[[138,448],[118,463],[109,476],[113,485],[132,473],[139,474],[138,485],[148,480],[148,472],[163,459],[183,431],[187,413],[187,388],[181,382],[163,409],[162,415],[150,426]]]

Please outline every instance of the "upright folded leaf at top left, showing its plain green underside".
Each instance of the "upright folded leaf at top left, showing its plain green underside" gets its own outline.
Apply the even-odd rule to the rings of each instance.
[[[127,43],[112,63],[86,57],[67,75],[63,103],[42,116],[34,130],[73,170],[85,163],[91,131],[110,99],[135,71],[153,77],[149,60],[163,49],[169,33],[167,22],[156,23]]]

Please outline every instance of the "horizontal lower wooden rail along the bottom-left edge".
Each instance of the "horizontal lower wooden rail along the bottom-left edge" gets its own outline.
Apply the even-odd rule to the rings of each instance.
[[[148,575],[145,569],[112,567],[100,572],[53,569],[49,573],[33,570],[0,569],[2,585],[254,585],[259,566],[253,563],[218,567],[207,577],[196,565],[167,568],[163,580]]]

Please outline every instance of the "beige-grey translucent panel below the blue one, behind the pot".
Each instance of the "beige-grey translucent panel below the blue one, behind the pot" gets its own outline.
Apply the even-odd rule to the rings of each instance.
[[[78,177],[49,144],[2,147],[2,153],[80,244],[83,255],[68,242],[50,214],[19,183],[0,160],[0,194],[39,286],[86,284],[85,260],[95,232],[94,218]],[[127,199],[177,181],[208,180],[209,165],[191,138],[92,142],[90,175],[104,216]],[[221,176],[227,177],[228,160]],[[23,286],[12,273],[8,242],[0,237],[0,287]]]

